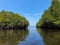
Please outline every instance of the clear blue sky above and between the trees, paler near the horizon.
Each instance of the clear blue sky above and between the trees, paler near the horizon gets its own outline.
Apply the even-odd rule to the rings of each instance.
[[[25,17],[35,26],[42,14],[51,5],[51,0],[0,0],[0,11],[12,11]]]

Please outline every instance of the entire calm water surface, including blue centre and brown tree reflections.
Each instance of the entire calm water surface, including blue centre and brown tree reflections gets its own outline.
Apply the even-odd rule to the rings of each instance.
[[[60,45],[60,31],[45,31],[36,27],[0,30],[0,45]]]

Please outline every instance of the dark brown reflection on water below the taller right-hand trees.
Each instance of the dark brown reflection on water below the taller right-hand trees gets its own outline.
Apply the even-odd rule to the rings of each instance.
[[[58,30],[42,30],[38,28],[42,35],[45,45],[60,45],[60,31]]]

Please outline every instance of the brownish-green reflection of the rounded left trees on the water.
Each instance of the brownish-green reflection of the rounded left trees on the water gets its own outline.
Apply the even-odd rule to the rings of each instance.
[[[28,30],[0,30],[0,45],[18,45],[28,35]]]

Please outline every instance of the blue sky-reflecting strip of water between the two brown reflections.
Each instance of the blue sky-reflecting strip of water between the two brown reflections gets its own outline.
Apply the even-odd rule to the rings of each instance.
[[[18,44],[18,45],[44,45],[43,38],[39,34],[36,27],[34,27],[34,26],[29,27],[28,31],[29,31],[29,33],[28,33],[27,37],[25,38],[25,40],[20,42],[20,44]]]

